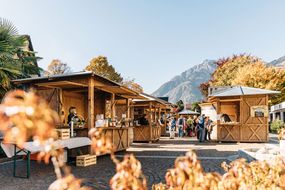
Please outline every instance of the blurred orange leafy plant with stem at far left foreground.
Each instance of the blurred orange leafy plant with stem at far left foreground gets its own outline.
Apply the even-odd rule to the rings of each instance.
[[[0,105],[0,122],[4,143],[14,143],[24,148],[25,143],[32,140],[41,150],[39,160],[44,159],[48,163],[51,158],[57,180],[49,189],[86,189],[81,188],[81,180],[76,179],[65,165],[63,149],[55,141],[54,128],[59,118],[46,101],[34,92],[11,91]]]

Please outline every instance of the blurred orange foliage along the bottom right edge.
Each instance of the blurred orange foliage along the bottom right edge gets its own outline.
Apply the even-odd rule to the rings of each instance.
[[[194,152],[175,161],[165,175],[166,184],[153,185],[153,190],[238,190],[285,189],[285,162],[282,158],[269,164],[265,161],[247,163],[245,159],[223,163],[224,175],[205,173]]]

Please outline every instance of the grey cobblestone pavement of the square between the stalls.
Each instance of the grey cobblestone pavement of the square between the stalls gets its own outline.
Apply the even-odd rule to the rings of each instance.
[[[205,171],[223,173],[220,164],[228,161],[229,156],[237,155],[240,148],[261,147],[263,143],[197,143],[195,139],[169,139],[162,137],[156,143],[134,143],[127,151],[117,153],[122,159],[126,153],[133,153],[140,160],[143,173],[147,177],[148,187],[151,184],[164,182],[168,168],[172,168],[175,158],[184,155],[190,149],[196,151]],[[18,161],[18,172],[25,171],[25,162]],[[97,158],[97,164],[89,167],[75,167],[71,164],[74,175],[84,179],[84,184],[93,189],[109,189],[109,180],[115,173],[115,166],[109,156]],[[13,163],[0,164],[0,189],[5,190],[42,190],[47,189],[55,180],[51,165],[31,163],[30,179],[14,178]]]

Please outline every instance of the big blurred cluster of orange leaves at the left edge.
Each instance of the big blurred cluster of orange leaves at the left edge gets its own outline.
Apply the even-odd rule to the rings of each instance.
[[[0,121],[4,141],[15,142],[22,147],[32,138],[42,143],[55,137],[53,129],[59,118],[35,93],[16,90],[7,93],[3,99]]]

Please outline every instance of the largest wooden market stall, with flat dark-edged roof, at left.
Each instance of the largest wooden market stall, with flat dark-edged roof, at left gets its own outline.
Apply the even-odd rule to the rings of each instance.
[[[130,146],[131,127],[128,122],[120,121],[122,114],[125,120],[130,118],[130,99],[141,97],[137,92],[92,72],[19,79],[14,83],[25,89],[35,89],[47,100],[51,108],[60,115],[58,129],[70,128],[67,116],[70,107],[76,107],[77,115],[85,122],[73,127],[74,136],[87,137],[88,130],[97,125],[110,137],[116,151]],[[124,102],[120,104],[124,109],[118,112],[121,115],[117,117],[116,102],[119,101]],[[91,152],[88,148],[82,151]]]

